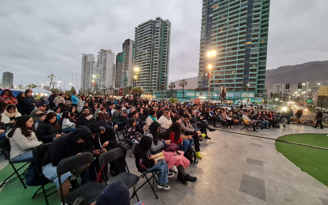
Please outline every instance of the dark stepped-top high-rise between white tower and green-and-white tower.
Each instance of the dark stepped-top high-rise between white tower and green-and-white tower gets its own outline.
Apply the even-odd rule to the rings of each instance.
[[[133,53],[133,40],[126,39],[122,45],[122,52],[116,55],[115,85],[133,85]]]

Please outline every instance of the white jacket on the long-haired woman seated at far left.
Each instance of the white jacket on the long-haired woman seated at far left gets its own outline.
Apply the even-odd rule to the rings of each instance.
[[[8,137],[8,133],[6,134],[6,137]],[[13,159],[41,144],[36,138],[34,132],[31,131],[31,134],[31,136],[26,137],[22,134],[20,128],[16,128],[12,137],[8,137],[10,142],[10,159]]]

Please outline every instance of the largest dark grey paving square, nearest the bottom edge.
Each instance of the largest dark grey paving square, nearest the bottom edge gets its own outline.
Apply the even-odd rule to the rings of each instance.
[[[239,191],[265,201],[264,179],[243,174]]]

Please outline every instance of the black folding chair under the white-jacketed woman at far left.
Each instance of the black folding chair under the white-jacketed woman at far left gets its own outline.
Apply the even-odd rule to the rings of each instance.
[[[14,173],[10,174],[0,185],[0,187],[2,187],[3,185],[11,182],[12,180],[16,179],[16,178],[19,178],[19,180],[22,182],[24,188],[26,189],[26,185],[23,181],[23,179],[25,179],[25,176],[23,176],[25,174],[25,172],[27,171],[27,168],[26,170],[22,173],[22,174],[19,174],[18,171],[21,170],[22,168],[24,168],[26,165],[28,165],[32,160],[26,160],[26,161],[21,161],[21,162],[13,162],[10,160],[10,142],[9,142],[9,139],[6,138],[6,139],[3,139],[0,141],[0,148],[2,149],[2,152],[3,154],[5,155],[5,158],[8,160],[9,164],[11,165],[12,169],[14,170]],[[14,164],[16,163],[24,163],[23,166],[21,166],[20,168],[16,169]],[[16,174],[17,176],[10,179],[9,181],[7,181],[11,176],[13,176],[14,174]],[[23,177],[22,177],[23,176]]]

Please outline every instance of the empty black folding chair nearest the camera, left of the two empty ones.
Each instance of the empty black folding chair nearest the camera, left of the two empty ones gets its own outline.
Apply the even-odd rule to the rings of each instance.
[[[57,165],[57,176],[59,182],[61,182],[60,176],[62,174],[76,170],[79,167],[82,167],[90,163],[93,164],[92,162],[93,162],[93,155],[90,152],[74,155],[61,160]],[[94,166],[93,169],[94,172],[97,173]],[[105,187],[104,184],[92,181],[83,186],[80,186],[79,188],[75,189],[74,191],[64,196],[62,184],[59,183],[59,186],[61,190],[60,194],[61,194],[62,201],[68,204],[73,204],[75,199],[77,199],[78,197],[85,198],[85,200],[87,200],[88,203],[90,204],[97,199],[98,195]]]

